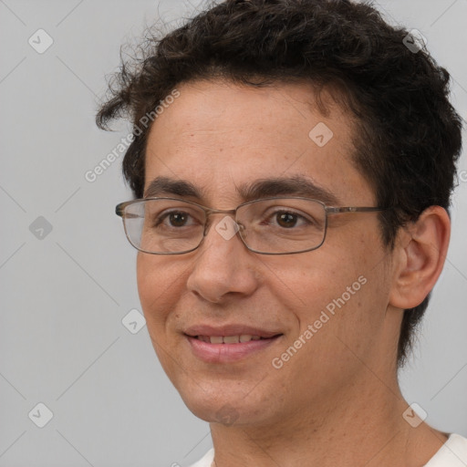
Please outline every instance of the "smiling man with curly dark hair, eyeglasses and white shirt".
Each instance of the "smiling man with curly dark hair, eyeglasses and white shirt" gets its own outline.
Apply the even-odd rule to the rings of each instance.
[[[133,124],[117,213],[161,365],[210,422],[195,465],[466,465],[397,377],[450,238],[447,71],[343,0],[229,0],[146,46],[98,124]]]

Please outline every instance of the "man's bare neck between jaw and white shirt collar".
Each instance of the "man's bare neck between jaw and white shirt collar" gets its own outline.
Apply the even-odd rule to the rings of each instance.
[[[338,401],[338,403],[336,403]],[[402,417],[408,403],[397,376],[382,381],[372,371],[362,384],[327,394],[260,424],[211,423],[215,467],[389,467],[428,462],[447,437]]]

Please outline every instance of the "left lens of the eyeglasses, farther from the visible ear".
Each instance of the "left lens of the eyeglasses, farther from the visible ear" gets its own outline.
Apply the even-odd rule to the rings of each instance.
[[[143,200],[123,215],[130,244],[147,253],[182,253],[202,240],[205,214],[189,202]]]

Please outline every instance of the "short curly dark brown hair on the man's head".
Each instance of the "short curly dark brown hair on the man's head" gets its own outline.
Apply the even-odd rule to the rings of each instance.
[[[249,86],[301,80],[334,86],[353,112],[353,160],[391,209],[379,216],[389,250],[401,225],[431,205],[449,213],[462,150],[462,119],[449,101],[450,75],[408,30],[389,26],[368,3],[348,0],[227,0],[168,34],[150,34],[143,54],[125,61],[109,83],[99,128],[127,116],[137,128],[171,90],[196,79],[227,78]],[[409,36],[408,36],[409,35]],[[193,109],[193,118],[196,110]],[[123,173],[143,195],[150,126],[133,131]],[[413,344],[430,295],[407,309],[398,365]]]

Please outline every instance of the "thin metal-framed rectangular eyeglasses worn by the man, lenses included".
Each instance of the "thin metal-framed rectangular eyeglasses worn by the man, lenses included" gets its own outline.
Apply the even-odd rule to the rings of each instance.
[[[178,198],[146,198],[120,202],[115,208],[123,219],[130,244],[143,253],[184,254],[202,244],[210,215],[234,214],[216,225],[225,239],[239,233],[246,248],[259,254],[296,254],[316,250],[326,238],[327,215],[373,213],[379,207],[329,207],[302,197],[262,198],[236,209],[211,209]]]

